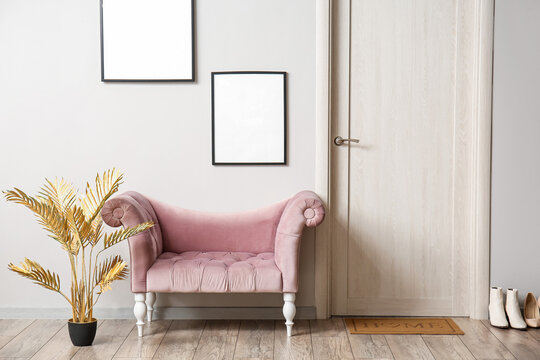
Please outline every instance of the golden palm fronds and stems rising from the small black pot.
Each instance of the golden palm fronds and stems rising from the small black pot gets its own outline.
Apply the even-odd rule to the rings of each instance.
[[[54,182],[46,179],[36,197],[17,188],[4,191],[8,201],[22,204],[34,212],[38,223],[66,251],[71,265],[70,296],[60,289],[60,277],[35,261],[25,258],[20,266],[10,263],[8,268],[62,295],[71,305],[73,322],[92,322],[93,308],[101,293],[110,289],[114,280],[127,277],[127,264],[120,256],[110,256],[99,262],[103,251],[154,225],[149,221],[110,234],[103,232],[101,209],[118,191],[122,178],[123,174],[115,169],[102,176],[98,174],[95,190],[87,183],[82,197],[64,179]],[[94,253],[99,243],[103,246]]]

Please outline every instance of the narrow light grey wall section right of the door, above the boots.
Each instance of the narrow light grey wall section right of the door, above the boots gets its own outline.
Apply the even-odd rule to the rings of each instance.
[[[540,2],[497,1],[491,284],[540,295]]]

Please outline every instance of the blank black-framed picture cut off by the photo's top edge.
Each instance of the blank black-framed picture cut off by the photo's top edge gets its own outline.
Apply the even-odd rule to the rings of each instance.
[[[194,81],[194,0],[100,0],[101,81]]]

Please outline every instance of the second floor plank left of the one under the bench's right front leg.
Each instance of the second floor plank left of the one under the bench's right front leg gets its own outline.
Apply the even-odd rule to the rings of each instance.
[[[237,320],[207,321],[194,359],[233,359],[239,329],[240,321]]]

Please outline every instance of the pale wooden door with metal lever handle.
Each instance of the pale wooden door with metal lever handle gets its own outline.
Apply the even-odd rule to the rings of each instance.
[[[334,2],[333,314],[468,315],[467,6]]]

